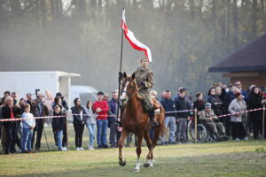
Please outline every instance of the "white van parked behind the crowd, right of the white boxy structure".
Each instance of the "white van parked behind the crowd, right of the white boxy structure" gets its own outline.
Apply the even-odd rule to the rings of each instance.
[[[98,90],[91,86],[72,85],[70,87],[70,106],[74,106],[74,98],[81,98],[82,105],[85,106],[88,100],[97,100]]]

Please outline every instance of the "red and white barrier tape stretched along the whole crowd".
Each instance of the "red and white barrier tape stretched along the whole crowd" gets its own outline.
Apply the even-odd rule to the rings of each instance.
[[[221,116],[217,116],[218,118],[223,118],[223,117],[227,117],[227,116],[231,116],[231,115],[237,115],[240,113],[246,113],[246,112],[256,112],[256,111],[260,111],[260,110],[266,110],[266,108],[257,108],[254,110],[246,110],[243,112],[235,112],[235,113],[229,113],[229,114],[224,114]],[[195,112],[194,110],[183,110],[183,111],[176,111],[176,112]],[[165,112],[165,113],[174,113],[174,112]],[[20,121],[20,120],[25,120],[25,119],[52,119],[52,118],[63,118],[66,116],[80,116],[81,114],[68,114],[66,113],[65,115],[60,115],[60,116],[43,116],[43,117],[34,117],[34,118],[15,118],[15,119],[0,119],[0,122],[6,122],[6,121]],[[89,115],[83,114],[82,116],[87,117]],[[116,115],[95,115],[96,117],[116,117]]]

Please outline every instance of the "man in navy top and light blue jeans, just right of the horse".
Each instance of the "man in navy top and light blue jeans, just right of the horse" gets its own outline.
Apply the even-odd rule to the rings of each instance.
[[[171,98],[171,92],[169,90],[165,91],[165,98],[160,101],[160,104],[163,106],[165,112],[165,119],[164,119],[164,125],[166,129],[169,127],[170,133],[169,133],[169,143],[175,143],[176,142],[176,109],[175,109],[175,102]],[[161,144],[166,143],[166,137],[163,135],[161,138]]]

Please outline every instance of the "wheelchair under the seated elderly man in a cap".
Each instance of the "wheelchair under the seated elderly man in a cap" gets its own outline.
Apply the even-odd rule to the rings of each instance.
[[[188,130],[192,139],[195,141],[195,122],[190,120],[188,123]],[[197,124],[197,142],[216,142],[218,137],[211,133],[202,121]]]

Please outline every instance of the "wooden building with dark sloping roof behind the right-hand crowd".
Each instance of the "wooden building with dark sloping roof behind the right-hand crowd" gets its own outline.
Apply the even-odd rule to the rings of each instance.
[[[218,64],[212,65],[208,71],[223,73],[223,77],[229,77],[231,83],[241,81],[243,89],[248,89],[251,84],[265,87],[266,34],[234,51]]]

